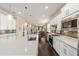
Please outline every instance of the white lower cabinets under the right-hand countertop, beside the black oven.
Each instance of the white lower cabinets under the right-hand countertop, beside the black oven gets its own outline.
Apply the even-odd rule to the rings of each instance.
[[[53,37],[53,48],[60,56],[77,56],[77,49]]]

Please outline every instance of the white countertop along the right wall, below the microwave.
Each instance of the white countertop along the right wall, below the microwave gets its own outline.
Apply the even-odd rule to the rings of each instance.
[[[73,48],[78,49],[78,39],[60,35],[60,36],[54,36],[54,38],[60,39],[61,41],[65,42],[66,44],[72,46]]]

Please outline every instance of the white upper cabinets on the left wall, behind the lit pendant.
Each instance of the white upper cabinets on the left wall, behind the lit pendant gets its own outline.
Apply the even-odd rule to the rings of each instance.
[[[0,14],[0,30],[16,29],[16,20],[9,20],[7,15]]]

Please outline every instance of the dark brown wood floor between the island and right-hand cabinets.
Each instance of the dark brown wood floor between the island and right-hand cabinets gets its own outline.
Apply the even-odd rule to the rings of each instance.
[[[38,56],[58,56],[48,41],[40,41],[38,44]]]

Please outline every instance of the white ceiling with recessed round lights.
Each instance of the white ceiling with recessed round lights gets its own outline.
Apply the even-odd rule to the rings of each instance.
[[[44,25],[64,3],[0,3],[0,9],[35,25]]]

